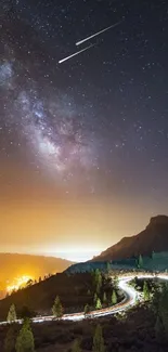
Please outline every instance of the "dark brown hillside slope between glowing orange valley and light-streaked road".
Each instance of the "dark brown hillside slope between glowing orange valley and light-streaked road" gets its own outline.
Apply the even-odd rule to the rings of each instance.
[[[15,304],[20,312],[27,307],[30,312],[41,315],[51,314],[55,297],[59,295],[64,309],[67,312],[81,311],[86,302],[90,303],[92,297],[88,296],[88,289],[92,288],[90,274],[66,275],[65,273],[53,275],[43,282],[18,290],[0,301],[0,320],[5,320],[9,308]]]

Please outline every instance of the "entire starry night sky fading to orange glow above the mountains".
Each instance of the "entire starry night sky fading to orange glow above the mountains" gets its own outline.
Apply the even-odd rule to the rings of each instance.
[[[167,1],[1,2],[1,251],[92,257],[168,213]]]

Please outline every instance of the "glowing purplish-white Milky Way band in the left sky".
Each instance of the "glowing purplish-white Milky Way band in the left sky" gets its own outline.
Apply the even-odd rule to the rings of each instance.
[[[48,92],[44,89],[44,94],[31,76],[29,62],[26,66],[16,58],[7,42],[0,62],[0,90],[1,122],[9,134],[16,129],[25,139],[29,153],[36,156],[37,169],[42,166],[55,182],[62,181],[66,192],[79,178],[80,182],[87,181],[88,192],[92,192],[93,185],[88,180],[91,180],[89,173],[99,168],[96,141],[91,129],[85,126],[82,107],[59,89],[50,87]],[[17,147],[22,148],[22,143]]]

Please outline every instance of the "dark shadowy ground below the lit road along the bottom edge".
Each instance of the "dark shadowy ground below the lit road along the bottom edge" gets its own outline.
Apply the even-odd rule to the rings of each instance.
[[[82,322],[51,322],[34,324],[35,347],[37,352],[70,352],[76,338],[81,340],[81,351],[91,351],[96,324],[103,328],[106,352],[166,352],[167,341],[155,337],[155,315],[148,308],[134,308],[126,317],[85,320]],[[0,327],[0,351],[9,327]],[[15,326],[17,335],[21,326]]]

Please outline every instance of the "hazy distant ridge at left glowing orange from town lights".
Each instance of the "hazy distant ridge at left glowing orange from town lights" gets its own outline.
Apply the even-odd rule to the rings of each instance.
[[[54,257],[0,253],[0,291],[2,292],[7,285],[12,285],[17,277],[29,276],[38,279],[39,276],[61,273],[73,262]]]

